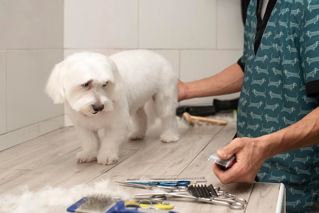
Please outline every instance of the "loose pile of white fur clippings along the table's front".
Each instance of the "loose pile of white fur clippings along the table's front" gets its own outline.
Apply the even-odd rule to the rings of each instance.
[[[47,209],[66,208],[77,200],[90,195],[105,195],[127,199],[129,195],[109,180],[99,180],[93,184],[79,184],[72,188],[44,187],[38,191],[30,191],[28,187],[15,195],[1,196],[0,212],[25,213],[47,212]]]

